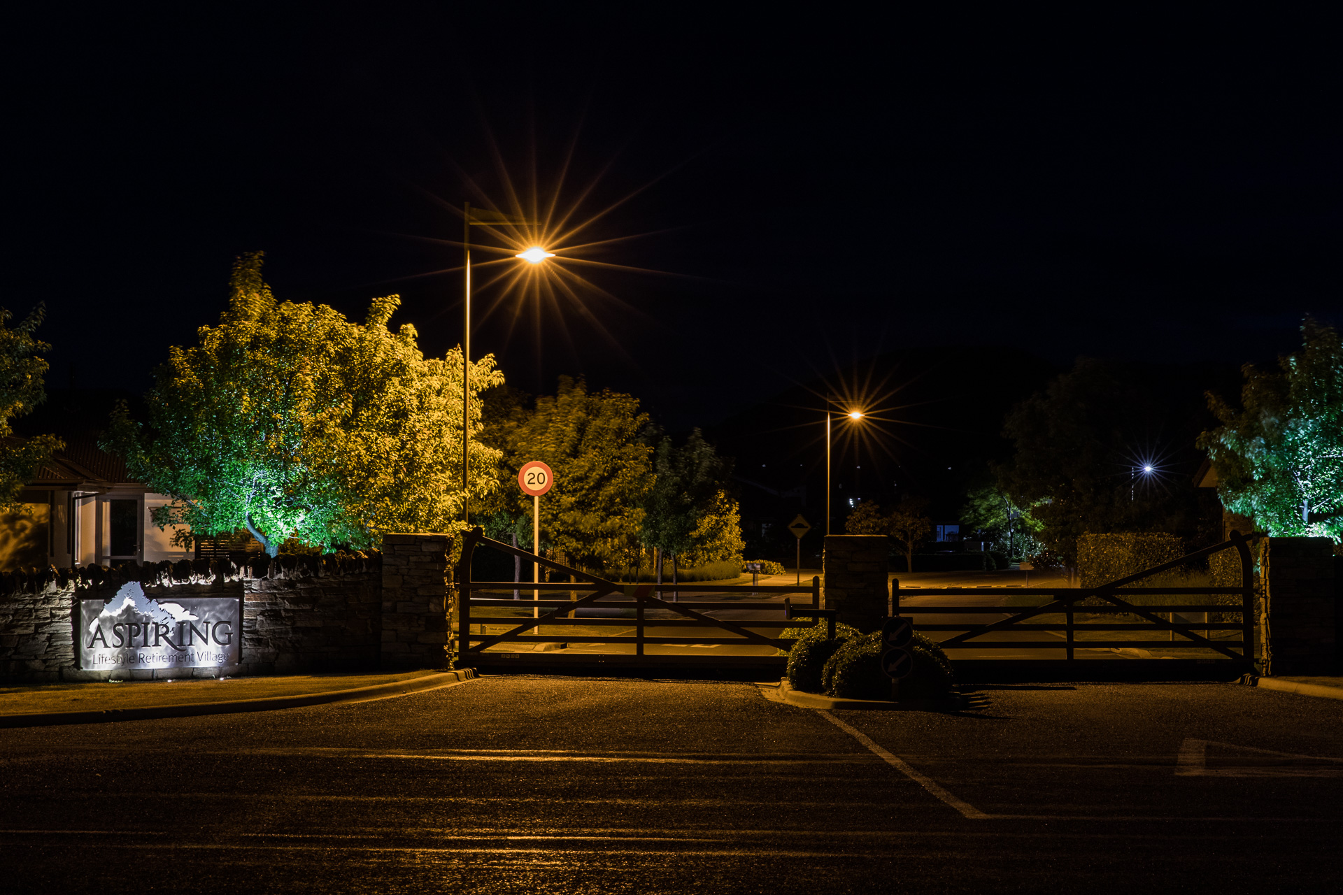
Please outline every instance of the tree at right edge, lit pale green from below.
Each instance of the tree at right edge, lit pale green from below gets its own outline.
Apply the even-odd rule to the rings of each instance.
[[[1312,318],[1277,370],[1246,365],[1241,409],[1209,394],[1221,425],[1203,432],[1218,495],[1275,535],[1343,538],[1343,346]]]

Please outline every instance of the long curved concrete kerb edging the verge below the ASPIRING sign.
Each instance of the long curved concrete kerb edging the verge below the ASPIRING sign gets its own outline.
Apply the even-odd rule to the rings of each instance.
[[[275,711],[302,708],[340,702],[369,702],[389,699],[426,690],[441,690],[478,679],[474,668],[443,671],[410,680],[393,680],[352,690],[328,690],[298,696],[267,696],[265,699],[231,699],[227,702],[200,702],[187,706],[144,706],[140,708],[107,708],[105,711],[48,711],[28,715],[0,715],[0,727],[46,727],[51,725],[98,725],[111,721],[148,721],[153,718],[191,718],[196,715],[230,715],[244,711]]]

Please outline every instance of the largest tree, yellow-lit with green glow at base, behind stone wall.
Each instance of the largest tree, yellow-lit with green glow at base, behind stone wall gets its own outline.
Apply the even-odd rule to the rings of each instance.
[[[384,531],[461,527],[461,352],[426,360],[414,326],[391,333],[395,295],[375,299],[363,325],[278,302],[261,263],[261,252],[240,258],[219,326],[169,350],[148,424],[125,407],[114,415],[105,447],[176,498],[154,522],[246,529],[271,556],[289,539],[368,546]],[[493,358],[473,364],[478,389],[501,381]],[[497,487],[498,452],[470,450],[477,499]]]

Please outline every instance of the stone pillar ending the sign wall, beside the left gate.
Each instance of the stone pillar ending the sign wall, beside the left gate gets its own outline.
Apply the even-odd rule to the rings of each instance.
[[[451,542],[432,533],[383,535],[381,667],[447,667]]]

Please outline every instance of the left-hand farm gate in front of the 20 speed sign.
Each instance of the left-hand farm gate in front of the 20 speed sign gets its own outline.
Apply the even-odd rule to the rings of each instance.
[[[477,581],[475,547],[571,581]],[[713,668],[778,679],[787,666],[780,651],[794,643],[775,636],[782,628],[810,628],[822,617],[834,624],[834,612],[821,608],[819,578],[798,586],[619,584],[486,538],[481,529],[466,534],[457,577],[458,663],[481,671]],[[798,594],[807,602],[792,605],[790,596]]]

